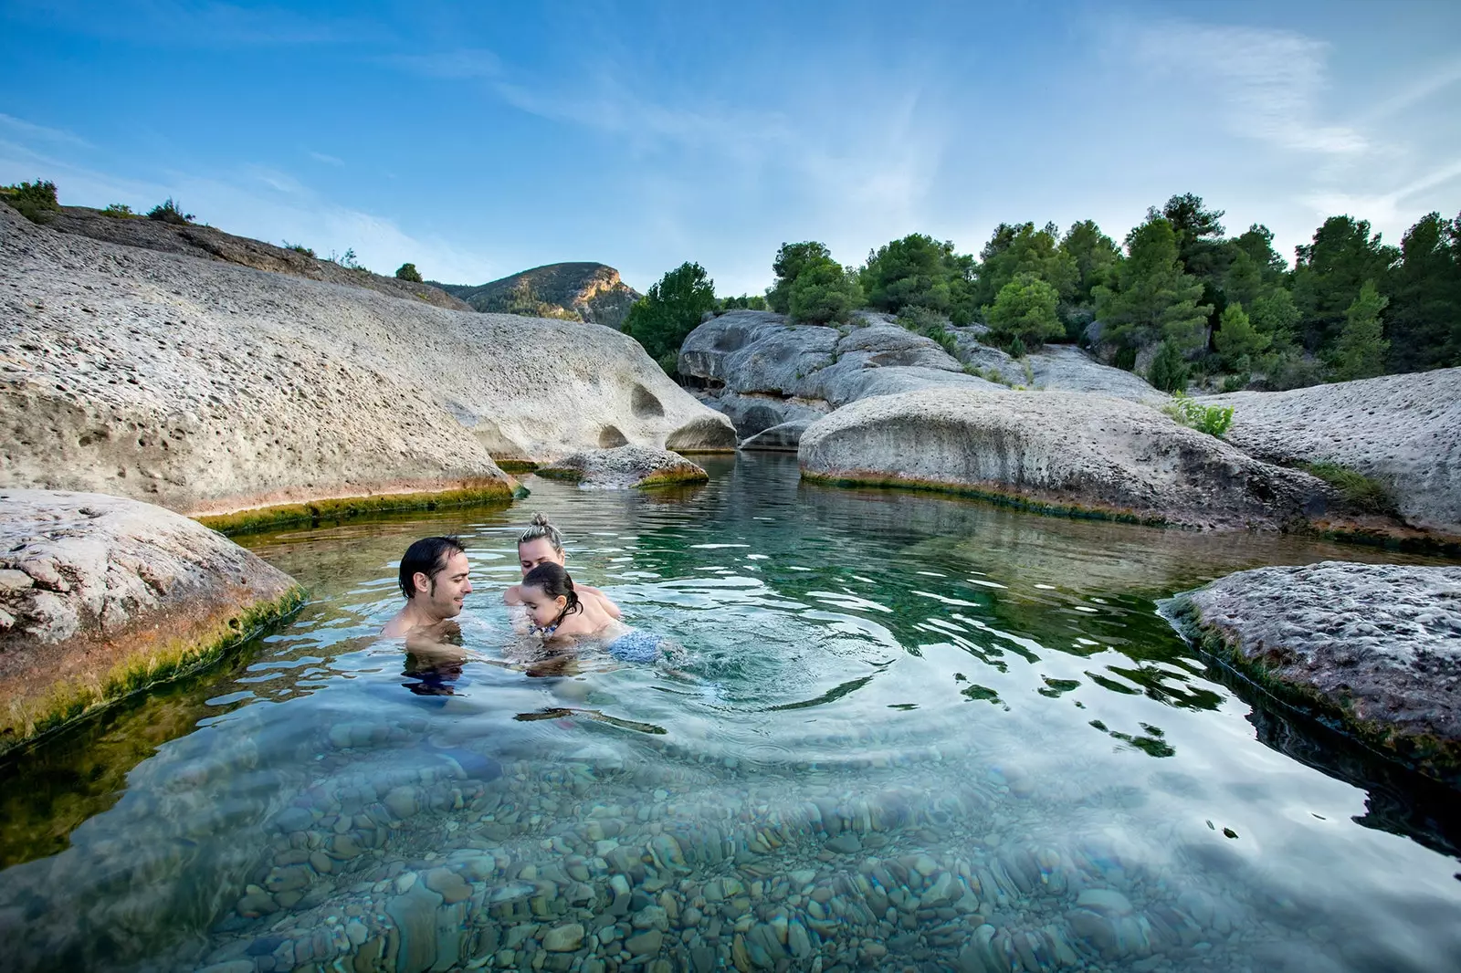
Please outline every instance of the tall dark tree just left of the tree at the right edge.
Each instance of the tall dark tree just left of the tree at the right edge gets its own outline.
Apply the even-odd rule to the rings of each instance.
[[[1313,241],[1296,248],[1293,299],[1300,313],[1300,337],[1311,352],[1325,354],[1340,336],[1347,313],[1366,281],[1385,281],[1400,257],[1395,247],[1370,235],[1369,221],[1330,216]]]

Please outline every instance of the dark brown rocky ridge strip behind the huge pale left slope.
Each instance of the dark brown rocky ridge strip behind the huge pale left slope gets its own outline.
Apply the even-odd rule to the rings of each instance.
[[[365,288],[396,298],[412,298],[437,307],[465,311],[468,305],[446,294],[441,288],[413,281],[400,281],[362,267],[348,267],[333,260],[321,260],[304,250],[276,247],[248,237],[225,234],[213,226],[197,224],[169,224],[137,216],[104,216],[99,209],[88,206],[63,206],[45,226],[63,234],[91,237],[127,247],[142,247],[161,253],[175,253],[184,257],[203,257],[237,263],[254,270],[289,273],[310,281],[327,281],[352,288]]]

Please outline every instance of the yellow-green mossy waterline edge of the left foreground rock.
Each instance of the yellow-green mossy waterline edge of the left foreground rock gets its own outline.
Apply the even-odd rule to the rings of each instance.
[[[305,590],[295,584],[279,598],[257,602],[200,633],[133,650],[102,675],[66,678],[45,695],[12,701],[0,723],[0,758],[130,695],[209,668],[300,611],[305,598]]]

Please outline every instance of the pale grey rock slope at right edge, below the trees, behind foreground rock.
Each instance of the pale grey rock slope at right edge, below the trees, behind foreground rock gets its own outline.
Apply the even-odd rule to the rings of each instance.
[[[1461,368],[1201,402],[1233,408],[1239,449],[1359,470],[1391,487],[1410,526],[1461,536]]]

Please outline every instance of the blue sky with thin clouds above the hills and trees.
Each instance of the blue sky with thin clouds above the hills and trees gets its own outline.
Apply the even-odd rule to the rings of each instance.
[[[1281,251],[1461,210],[1461,4],[0,0],[0,183],[481,283],[698,260],[760,291],[1194,191]]]

